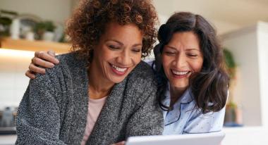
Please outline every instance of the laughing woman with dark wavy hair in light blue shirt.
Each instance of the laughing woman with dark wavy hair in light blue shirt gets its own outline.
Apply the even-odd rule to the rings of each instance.
[[[229,77],[216,32],[205,18],[175,13],[159,28],[152,63],[164,133],[220,131]]]

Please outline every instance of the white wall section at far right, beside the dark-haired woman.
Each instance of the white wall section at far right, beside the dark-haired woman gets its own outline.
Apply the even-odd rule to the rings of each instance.
[[[238,96],[234,97],[242,104],[244,124],[267,126],[268,23],[224,34],[222,39],[238,63]]]

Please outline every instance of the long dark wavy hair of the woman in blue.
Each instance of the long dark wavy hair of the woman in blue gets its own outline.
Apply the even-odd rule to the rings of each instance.
[[[196,102],[196,107],[202,113],[217,112],[226,104],[229,76],[224,65],[223,50],[219,45],[216,31],[205,18],[188,12],[180,12],[171,15],[166,24],[159,28],[159,44],[154,47],[156,60],[155,73],[159,82],[157,99],[163,110],[171,110],[173,106],[164,106],[162,101],[168,79],[164,74],[161,55],[163,48],[169,43],[176,32],[193,32],[200,42],[200,49],[204,57],[202,69],[199,73],[190,76],[189,87]]]

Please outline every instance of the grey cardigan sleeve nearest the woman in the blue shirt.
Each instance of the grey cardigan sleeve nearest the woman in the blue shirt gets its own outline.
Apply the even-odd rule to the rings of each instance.
[[[128,77],[128,83],[136,89],[136,107],[126,127],[126,137],[160,135],[164,121],[162,110],[157,103],[157,82],[154,80],[152,69],[141,62],[136,70]]]

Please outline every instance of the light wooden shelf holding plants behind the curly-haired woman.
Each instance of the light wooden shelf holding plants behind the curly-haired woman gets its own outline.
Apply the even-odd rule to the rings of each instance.
[[[1,38],[2,49],[17,49],[24,51],[48,51],[53,50],[56,53],[68,53],[71,44],[59,42],[30,41],[26,39]]]

